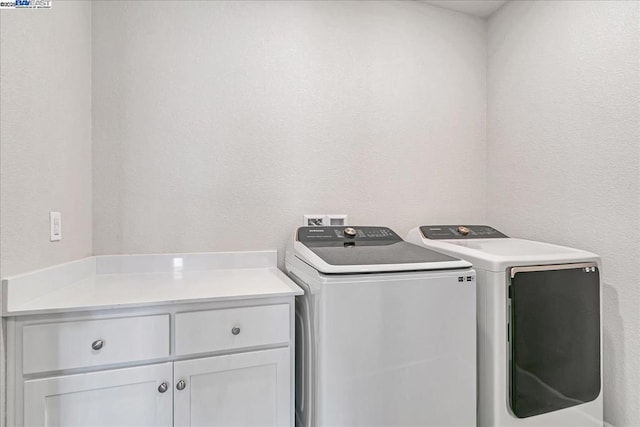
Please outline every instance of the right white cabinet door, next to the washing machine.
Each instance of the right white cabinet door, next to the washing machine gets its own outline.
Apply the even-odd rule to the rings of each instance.
[[[288,348],[176,362],[174,384],[176,427],[290,426]]]

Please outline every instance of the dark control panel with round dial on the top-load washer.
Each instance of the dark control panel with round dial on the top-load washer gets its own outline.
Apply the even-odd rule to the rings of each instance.
[[[374,245],[380,242],[402,242],[402,238],[387,227],[300,227],[298,241],[305,244],[322,244],[324,242],[327,246],[343,242]]]

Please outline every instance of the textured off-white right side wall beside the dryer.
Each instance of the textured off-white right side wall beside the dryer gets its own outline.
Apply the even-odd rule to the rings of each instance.
[[[603,258],[605,418],[640,425],[638,2],[510,2],[488,24],[489,223]]]

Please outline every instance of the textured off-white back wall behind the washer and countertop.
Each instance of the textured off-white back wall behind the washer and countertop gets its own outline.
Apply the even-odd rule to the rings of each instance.
[[[95,253],[481,222],[485,36],[419,2],[95,3]]]

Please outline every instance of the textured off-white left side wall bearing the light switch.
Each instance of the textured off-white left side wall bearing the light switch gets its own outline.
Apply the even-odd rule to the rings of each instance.
[[[0,277],[92,252],[91,4],[53,3],[0,11]],[[49,211],[62,213],[60,242]]]

